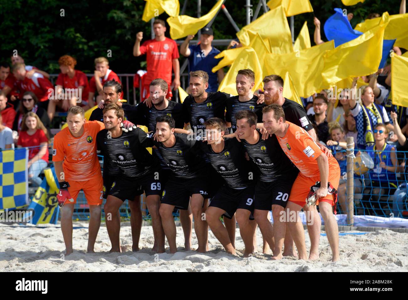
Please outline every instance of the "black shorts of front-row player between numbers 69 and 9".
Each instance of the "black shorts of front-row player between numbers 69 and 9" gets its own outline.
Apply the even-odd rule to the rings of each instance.
[[[206,178],[178,178],[171,176],[162,193],[162,203],[174,205],[178,209],[188,209],[190,196],[202,194],[208,198],[208,183]]]

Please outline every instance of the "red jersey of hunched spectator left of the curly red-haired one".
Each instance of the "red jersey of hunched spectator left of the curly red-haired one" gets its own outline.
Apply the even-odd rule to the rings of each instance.
[[[20,99],[22,99],[24,92],[31,91],[35,93],[39,102],[43,102],[48,100],[49,93],[52,95],[54,93],[51,82],[40,73],[34,73],[31,78],[26,77],[22,81],[16,81],[16,86],[20,89]]]

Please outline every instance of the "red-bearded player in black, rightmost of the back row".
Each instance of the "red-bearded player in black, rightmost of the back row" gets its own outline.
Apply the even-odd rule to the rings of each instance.
[[[265,104],[276,103],[282,106],[286,120],[288,120],[288,122],[296,124],[299,127],[302,127],[313,138],[313,140],[316,141],[320,149],[324,151],[327,156],[332,156],[327,147],[324,147],[317,141],[316,131],[313,128],[312,123],[308,119],[304,107],[299,103],[296,103],[295,101],[284,98],[284,81],[282,77],[280,77],[279,75],[269,75],[266,76],[262,80],[262,82],[264,82]],[[313,218],[313,221],[310,222],[311,224],[307,225],[311,242],[309,259],[313,260],[319,258],[319,239],[322,220],[320,220],[315,206],[308,207],[307,205],[305,205],[303,209],[305,211],[311,211],[311,216]],[[315,240],[314,237],[317,237],[318,239]],[[290,255],[295,256],[295,251],[292,251]]]

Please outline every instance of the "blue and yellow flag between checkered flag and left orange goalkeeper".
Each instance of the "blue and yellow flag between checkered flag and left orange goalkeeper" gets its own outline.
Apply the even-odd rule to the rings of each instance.
[[[35,192],[28,211],[33,211],[32,224],[57,224],[60,207],[58,206],[57,193],[60,191],[56,182],[54,168],[44,170],[45,178]]]

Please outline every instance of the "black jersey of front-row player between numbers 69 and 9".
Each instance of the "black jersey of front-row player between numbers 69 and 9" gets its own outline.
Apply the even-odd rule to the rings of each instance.
[[[196,178],[205,176],[205,163],[200,154],[200,146],[197,141],[191,139],[184,133],[175,133],[176,142],[173,147],[166,147],[162,142],[153,140],[153,133],[150,137],[150,147],[153,145],[159,149],[164,163],[169,167],[171,173],[179,178]]]

